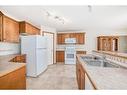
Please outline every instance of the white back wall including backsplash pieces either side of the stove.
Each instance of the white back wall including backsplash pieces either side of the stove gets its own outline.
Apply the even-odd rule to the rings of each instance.
[[[69,31],[66,31],[69,32]],[[71,31],[72,32],[72,31]],[[103,35],[127,35],[127,30],[109,30],[109,29],[91,29],[75,32],[85,32],[85,45],[78,45],[78,50],[86,50],[87,53],[91,53],[92,50],[97,49],[97,37]],[[57,46],[57,49],[64,49],[65,45]]]

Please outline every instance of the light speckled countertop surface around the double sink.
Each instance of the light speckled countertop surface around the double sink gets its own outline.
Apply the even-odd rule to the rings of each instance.
[[[81,59],[81,56],[84,55],[78,54],[77,58],[97,89],[127,89],[127,69],[89,66]]]

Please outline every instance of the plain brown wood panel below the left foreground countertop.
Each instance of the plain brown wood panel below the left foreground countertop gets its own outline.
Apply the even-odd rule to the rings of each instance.
[[[1,90],[21,90],[26,89],[26,68],[21,67],[18,70],[0,77]]]

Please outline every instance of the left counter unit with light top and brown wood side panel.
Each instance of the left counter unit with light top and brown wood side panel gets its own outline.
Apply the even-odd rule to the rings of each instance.
[[[26,89],[25,63],[14,61],[24,55],[0,56],[0,89]]]

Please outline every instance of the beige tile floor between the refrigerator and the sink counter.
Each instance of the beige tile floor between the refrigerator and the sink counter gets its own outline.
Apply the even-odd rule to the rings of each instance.
[[[54,64],[39,77],[27,77],[27,89],[73,90],[78,89],[75,65]]]

